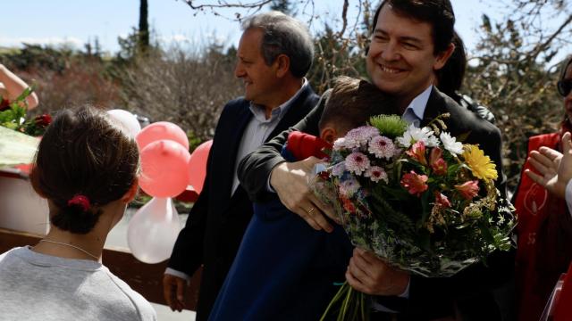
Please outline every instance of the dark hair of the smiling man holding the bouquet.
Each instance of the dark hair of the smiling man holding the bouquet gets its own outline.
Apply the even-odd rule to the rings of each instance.
[[[383,0],[375,12],[372,32],[375,31],[383,5],[390,5],[391,10],[401,16],[429,23],[433,27],[433,53],[447,50],[455,27],[455,13],[450,0]]]

